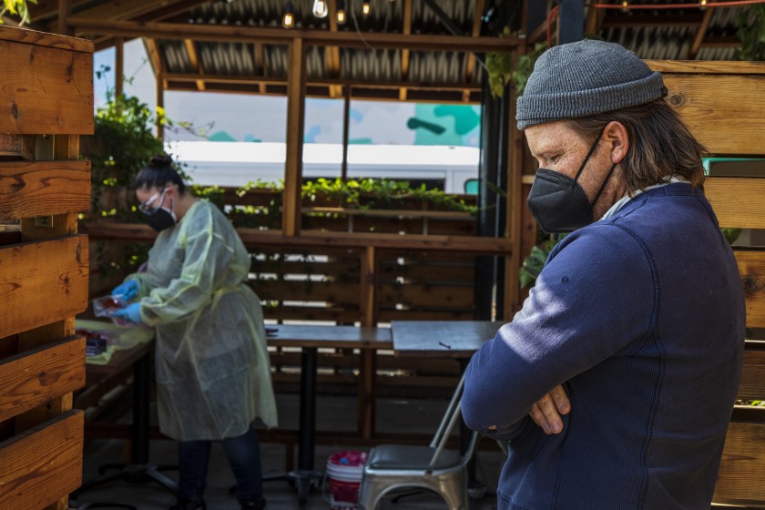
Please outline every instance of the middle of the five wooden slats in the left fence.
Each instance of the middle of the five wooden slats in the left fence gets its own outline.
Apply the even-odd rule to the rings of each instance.
[[[87,236],[0,249],[0,338],[87,308]]]

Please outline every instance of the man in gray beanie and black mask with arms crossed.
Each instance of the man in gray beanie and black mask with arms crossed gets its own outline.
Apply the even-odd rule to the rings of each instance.
[[[704,152],[662,76],[616,44],[556,46],[517,101],[550,253],[467,368],[465,422],[510,441],[498,507],[709,509],[739,385],[739,270]]]

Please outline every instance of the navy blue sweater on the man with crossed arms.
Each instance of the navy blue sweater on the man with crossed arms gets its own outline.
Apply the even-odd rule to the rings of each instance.
[[[467,368],[465,422],[511,440],[499,508],[709,509],[744,323],[736,260],[699,189],[650,189],[567,236]],[[528,412],[561,383],[571,413],[546,435]]]

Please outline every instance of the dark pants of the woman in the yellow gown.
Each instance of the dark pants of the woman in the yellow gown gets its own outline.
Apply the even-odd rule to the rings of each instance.
[[[244,435],[224,439],[221,443],[237,480],[237,499],[243,502],[260,501],[263,480],[258,433],[250,427]],[[178,444],[179,490],[186,498],[199,500],[204,495],[211,444],[211,441],[186,441]]]

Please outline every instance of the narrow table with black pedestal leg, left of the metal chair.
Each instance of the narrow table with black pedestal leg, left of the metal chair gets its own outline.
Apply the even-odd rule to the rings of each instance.
[[[313,468],[316,433],[316,352],[319,347],[334,349],[391,349],[391,331],[387,328],[356,326],[278,325],[267,327],[268,344],[274,347],[301,348],[301,412],[298,431],[298,469],[285,474],[266,476],[264,481],[291,480],[298,489],[301,508],[305,507],[311,484],[323,475]],[[373,402],[359,402],[373,406]]]

